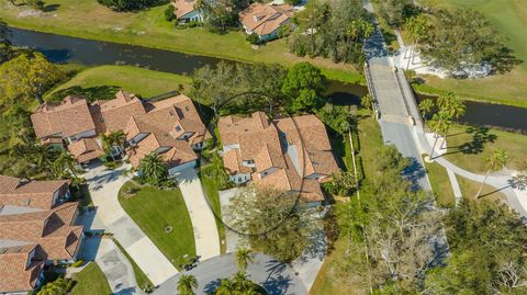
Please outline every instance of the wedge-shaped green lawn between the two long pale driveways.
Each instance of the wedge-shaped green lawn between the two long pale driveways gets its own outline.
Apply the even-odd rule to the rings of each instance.
[[[128,189],[138,191],[127,196]],[[121,188],[119,202],[176,268],[187,262],[184,256],[195,256],[192,223],[179,189],[159,191],[127,182]],[[167,226],[172,227],[171,232],[165,232]]]

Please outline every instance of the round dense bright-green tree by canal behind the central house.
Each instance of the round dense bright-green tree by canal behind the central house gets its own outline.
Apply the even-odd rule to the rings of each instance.
[[[282,92],[293,111],[313,111],[324,103],[322,95],[327,89],[326,83],[326,77],[321,69],[310,63],[300,63],[289,69],[283,80]]]

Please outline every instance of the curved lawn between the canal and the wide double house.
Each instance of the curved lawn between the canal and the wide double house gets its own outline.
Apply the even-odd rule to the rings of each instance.
[[[99,66],[85,69],[69,81],[59,84],[46,94],[46,100],[58,101],[68,94],[85,95],[91,100],[111,99],[120,89],[148,98],[179,90],[190,89],[191,78],[142,69],[131,66]]]

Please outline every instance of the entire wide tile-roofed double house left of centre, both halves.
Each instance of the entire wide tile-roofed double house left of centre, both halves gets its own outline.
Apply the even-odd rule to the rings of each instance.
[[[67,124],[69,121],[75,124]],[[105,154],[101,134],[123,131],[132,166],[137,167],[145,155],[156,151],[169,164],[170,174],[195,166],[194,150],[202,148],[208,134],[192,100],[186,95],[148,102],[126,91],[119,91],[112,100],[90,104],[83,98],[67,97],[58,105],[41,107],[32,115],[32,122],[43,144],[51,139],[60,145],[67,143],[79,163]],[[122,148],[113,147],[112,155],[121,154]]]

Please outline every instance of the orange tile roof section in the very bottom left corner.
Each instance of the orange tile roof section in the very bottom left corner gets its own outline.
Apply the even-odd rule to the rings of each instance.
[[[25,292],[35,287],[44,266],[44,261],[33,259],[31,252],[37,252],[35,243],[0,248],[0,293]]]

